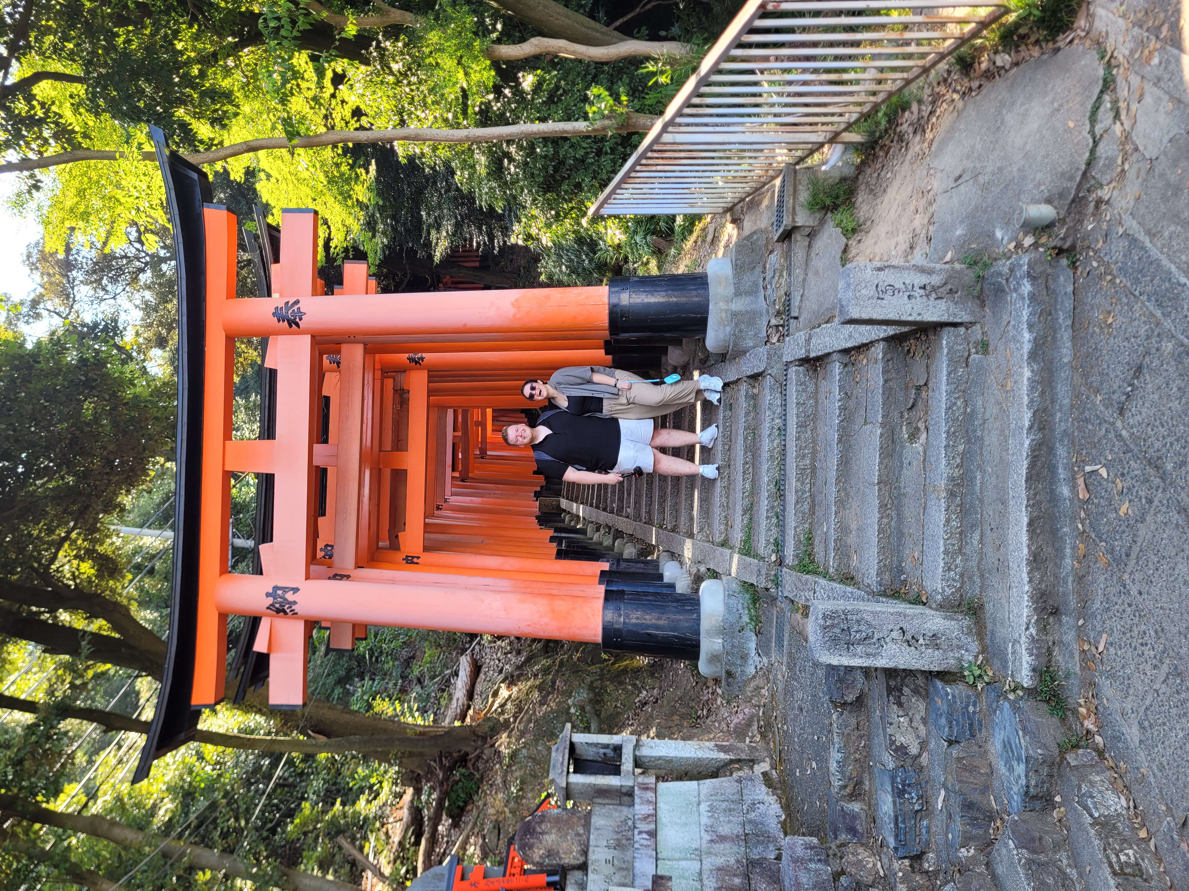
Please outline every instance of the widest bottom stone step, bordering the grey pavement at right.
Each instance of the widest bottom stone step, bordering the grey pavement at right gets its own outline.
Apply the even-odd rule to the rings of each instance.
[[[1002,539],[984,538],[982,551],[989,555],[1002,546],[1007,555],[1007,584],[984,588],[987,646],[1000,676],[1034,687],[1048,659],[1049,634],[1057,636],[1057,628],[1049,627],[1055,621],[1050,615],[1075,614],[1068,520],[1072,276],[1061,261],[1026,254],[995,264],[983,280],[983,293],[984,393],[994,392],[1006,406],[994,417],[987,412],[983,435],[990,423],[1006,422],[1008,431],[1007,449],[996,461],[1007,480],[1006,493],[995,492],[994,498],[983,493],[988,508],[996,511],[996,536],[1001,531]],[[999,579],[1004,574],[998,567]]]

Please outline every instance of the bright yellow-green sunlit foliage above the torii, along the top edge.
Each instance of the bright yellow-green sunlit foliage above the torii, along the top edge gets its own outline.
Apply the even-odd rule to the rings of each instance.
[[[40,1],[45,10],[68,8]],[[51,252],[62,253],[69,240],[119,249],[133,230],[155,247],[164,220],[157,172],[139,160],[150,147],[147,124],[163,126],[175,147],[199,151],[327,129],[581,121],[605,118],[608,108],[658,112],[667,101],[666,80],[671,88],[674,70],[688,68],[688,59],[654,59],[646,70],[630,58],[609,64],[540,56],[489,59],[492,43],[537,36],[526,20],[545,27],[548,17],[535,18],[528,7],[536,4],[553,14],[552,0],[526,0],[514,15],[483,0],[416,0],[405,5],[415,25],[363,30],[350,24],[352,17],[372,7],[351,0],[332,5],[334,20],[345,13],[347,23],[338,31],[321,18],[323,7],[296,0],[270,0],[259,12],[235,0],[185,8],[162,2],[159,11],[155,2],[161,0],[130,4],[122,12],[80,7],[75,14],[88,27],[38,24],[34,31],[45,30],[46,39],[31,39],[19,56],[23,75],[51,68],[88,72],[87,83],[45,81],[25,90],[55,116],[49,129],[59,135],[36,145],[20,137],[23,151],[92,147],[127,156],[23,175],[20,201],[42,220]],[[637,37],[696,40],[710,21],[707,8],[736,5],[688,0],[658,6],[630,23]],[[627,0],[571,6],[579,19],[603,23],[636,8]],[[249,10],[256,15],[251,33],[244,18]],[[171,43],[163,46],[159,36],[166,32]],[[8,127],[2,113],[0,127]],[[11,127],[15,139],[18,125]],[[440,260],[449,247],[504,241],[548,255],[579,236],[604,242],[614,236],[605,222],[584,223],[583,216],[637,143],[637,134],[612,133],[485,145],[332,146],[262,151],[225,168],[232,178],[254,184],[273,221],[282,207],[316,208],[326,247],[336,258],[366,255],[379,265],[415,253],[420,260]],[[409,201],[422,184],[445,198],[427,207],[428,214],[417,207],[428,202]],[[447,210],[454,220],[446,219]],[[564,266],[545,264],[547,270]]]

